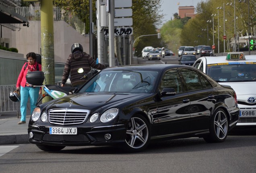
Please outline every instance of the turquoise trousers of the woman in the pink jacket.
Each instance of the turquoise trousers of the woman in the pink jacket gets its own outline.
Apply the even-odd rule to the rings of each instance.
[[[30,115],[34,111],[39,95],[39,87],[21,87],[21,121],[26,121],[27,102],[30,102]]]

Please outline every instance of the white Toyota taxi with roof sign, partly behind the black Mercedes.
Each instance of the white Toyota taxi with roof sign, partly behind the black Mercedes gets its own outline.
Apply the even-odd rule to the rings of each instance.
[[[230,52],[227,56],[200,57],[194,62],[219,84],[231,86],[240,108],[237,126],[256,126],[256,56]]]

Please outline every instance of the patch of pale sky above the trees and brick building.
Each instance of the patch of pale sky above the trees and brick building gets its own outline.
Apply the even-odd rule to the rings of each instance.
[[[171,20],[171,18],[173,19],[174,13],[179,13],[179,6],[194,6],[196,8],[198,2],[201,1],[206,2],[206,0],[162,0],[162,14],[166,14],[163,18],[163,23]]]

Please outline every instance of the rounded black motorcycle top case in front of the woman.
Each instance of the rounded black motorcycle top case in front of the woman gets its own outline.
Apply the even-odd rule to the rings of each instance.
[[[32,85],[42,85],[44,80],[44,74],[42,71],[27,72],[26,80]]]

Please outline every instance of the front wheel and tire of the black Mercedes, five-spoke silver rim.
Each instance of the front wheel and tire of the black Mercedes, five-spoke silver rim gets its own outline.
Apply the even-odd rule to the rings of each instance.
[[[149,145],[151,130],[149,122],[142,115],[132,117],[127,125],[124,149],[128,152],[140,152]]]

